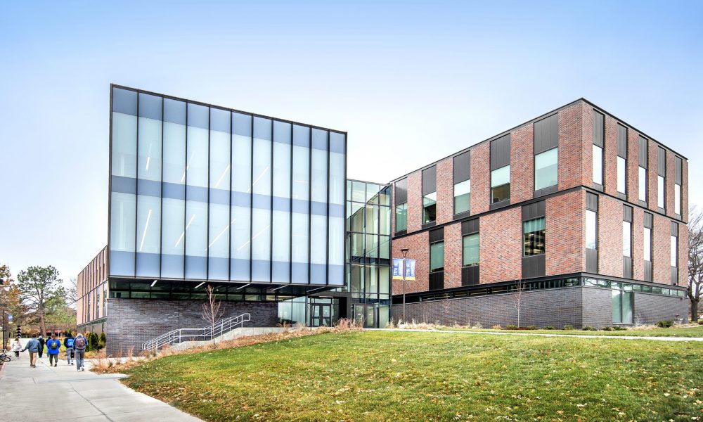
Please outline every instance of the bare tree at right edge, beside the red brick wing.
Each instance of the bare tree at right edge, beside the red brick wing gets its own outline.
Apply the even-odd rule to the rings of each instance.
[[[691,321],[698,319],[698,305],[703,291],[703,212],[695,206],[688,212],[688,298]]]

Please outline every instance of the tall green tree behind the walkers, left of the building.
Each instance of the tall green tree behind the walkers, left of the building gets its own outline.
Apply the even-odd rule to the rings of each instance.
[[[58,271],[51,265],[29,267],[18,274],[17,288],[22,302],[25,302],[30,311],[36,312],[41,334],[44,335],[47,311],[51,310],[57,300],[63,301],[65,298],[65,288],[61,286]]]

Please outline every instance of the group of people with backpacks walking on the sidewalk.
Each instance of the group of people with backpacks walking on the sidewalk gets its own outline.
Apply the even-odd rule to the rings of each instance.
[[[37,355],[41,358],[44,353],[44,345],[46,345],[46,352],[49,354],[49,366],[56,366],[58,364],[58,352],[61,348],[61,340],[58,340],[56,335],[52,335],[49,340],[44,340],[41,335],[37,338],[37,335],[33,334],[25,347],[22,347],[19,338],[15,338],[12,343],[12,351],[15,352],[15,357],[20,357],[20,352],[25,350],[30,352],[30,366],[36,368]],[[72,365],[75,362],[76,371],[85,371],[84,359],[88,340],[81,333],[78,333],[75,338],[68,334],[63,339],[63,346],[66,348],[66,361],[68,364]]]

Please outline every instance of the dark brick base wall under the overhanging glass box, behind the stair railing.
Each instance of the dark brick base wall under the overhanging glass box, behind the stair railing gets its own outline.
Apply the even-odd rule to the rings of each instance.
[[[108,302],[108,321],[105,335],[108,354],[127,352],[134,346],[135,354],[141,352],[141,343],[176,328],[202,327],[202,300],[117,299]],[[221,302],[222,317],[246,312],[252,320],[249,327],[275,327],[278,325],[277,302]]]

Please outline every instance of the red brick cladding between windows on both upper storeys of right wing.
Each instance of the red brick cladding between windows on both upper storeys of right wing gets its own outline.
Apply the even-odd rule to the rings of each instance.
[[[557,192],[545,201],[545,272],[559,276],[586,271],[586,191],[599,196],[598,210],[598,273],[623,277],[622,221],[623,205],[633,207],[632,262],[635,280],[644,279],[643,222],[644,211],[638,203],[638,145],[640,133],[602,110],[605,115],[603,192],[593,191],[593,113],[586,101],[576,101],[557,111],[558,170]],[[617,127],[627,128],[627,201],[617,192]],[[497,138],[497,136],[496,136]],[[496,139],[494,138],[494,139]],[[510,205],[490,210],[490,142],[484,141],[471,150],[471,212],[479,217],[479,283],[512,281],[522,277],[522,205],[534,203],[534,121],[510,131]],[[647,138],[648,139],[648,138]],[[647,212],[654,214],[652,230],[653,281],[671,284],[671,222],[680,224],[679,266],[687,266],[687,229],[674,215],[673,184],[676,153],[666,150],[666,210],[657,207],[657,155],[660,144],[648,139]],[[463,151],[462,151],[463,152]],[[437,165],[437,226],[444,225],[444,288],[462,285],[461,223],[453,222],[453,157]],[[683,160],[681,210],[688,218],[688,161]],[[410,248],[408,257],[417,260],[416,281],[408,281],[406,292],[429,288],[429,236],[421,230],[421,170],[408,175],[408,231],[393,241],[393,257],[401,257],[400,249]],[[417,233],[415,233],[417,232]],[[679,271],[679,284],[685,285],[685,271]],[[394,281],[394,294],[401,285]]]

